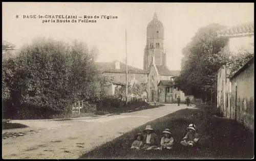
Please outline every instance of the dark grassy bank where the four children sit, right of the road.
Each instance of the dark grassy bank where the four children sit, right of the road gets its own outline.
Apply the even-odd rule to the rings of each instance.
[[[160,151],[139,153],[130,151],[133,137],[142,132],[142,125],[124,135],[83,154],[80,158],[252,158],[253,133],[233,120],[219,118],[208,105],[198,109],[179,110],[165,117],[148,122],[156,130],[159,139],[162,131],[169,128],[175,139],[175,148],[170,153]],[[202,143],[200,151],[184,151],[179,142],[186,133],[188,124],[194,123]]]

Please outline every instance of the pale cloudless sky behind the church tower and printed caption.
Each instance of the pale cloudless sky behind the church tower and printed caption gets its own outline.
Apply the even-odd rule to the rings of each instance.
[[[3,40],[21,47],[36,37],[72,42],[77,39],[99,50],[97,61],[127,61],[143,69],[146,27],[157,12],[164,25],[166,65],[180,70],[182,48],[201,26],[219,23],[233,26],[254,20],[253,3],[2,3]],[[18,18],[16,18],[18,15]],[[36,15],[36,18],[23,18]],[[96,23],[42,23],[38,15],[117,16],[96,19]],[[82,18],[83,19],[83,18]]]

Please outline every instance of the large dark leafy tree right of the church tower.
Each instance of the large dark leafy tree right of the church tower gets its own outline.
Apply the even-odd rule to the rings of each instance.
[[[222,65],[219,51],[226,40],[217,36],[224,26],[209,24],[200,28],[190,43],[183,49],[181,73],[175,80],[175,86],[185,94],[200,96],[216,90],[217,71]]]

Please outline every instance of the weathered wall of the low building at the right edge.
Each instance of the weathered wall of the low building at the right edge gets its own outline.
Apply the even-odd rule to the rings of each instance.
[[[254,62],[231,81],[231,118],[254,129]],[[237,89],[237,99],[236,99]],[[237,101],[236,101],[237,100]]]

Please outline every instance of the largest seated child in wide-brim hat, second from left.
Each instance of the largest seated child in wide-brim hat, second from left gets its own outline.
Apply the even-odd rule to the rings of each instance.
[[[159,145],[159,140],[151,125],[146,125],[146,128],[143,130],[143,132],[146,134],[144,135],[142,149],[156,149],[157,146]]]

